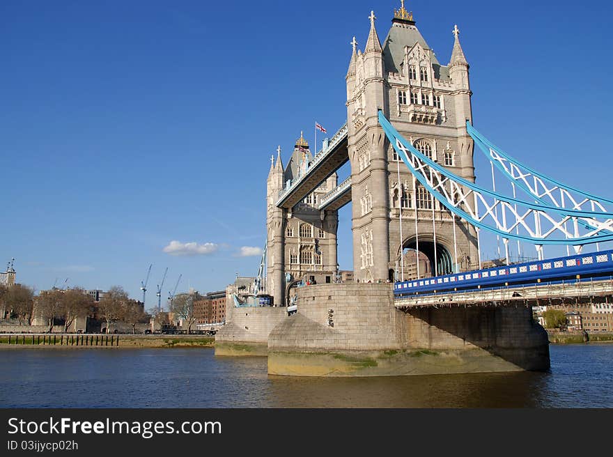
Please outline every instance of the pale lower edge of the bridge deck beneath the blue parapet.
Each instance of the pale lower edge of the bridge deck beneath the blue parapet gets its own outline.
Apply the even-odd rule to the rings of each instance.
[[[431,295],[412,295],[396,298],[397,309],[413,309],[424,307],[464,307],[490,306],[492,304],[561,304],[574,300],[604,301],[603,297],[613,296],[613,280],[577,281],[573,284],[541,284],[479,291],[441,292]],[[599,300],[602,298],[603,300]]]

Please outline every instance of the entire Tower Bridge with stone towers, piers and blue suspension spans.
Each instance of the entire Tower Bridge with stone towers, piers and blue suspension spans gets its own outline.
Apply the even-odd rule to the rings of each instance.
[[[375,14],[368,19],[364,50],[355,37],[350,43],[347,123],[315,155],[301,134],[286,166],[281,147],[272,157],[261,280],[281,308],[254,310],[257,319],[228,311],[216,353],[257,334],[273,374],[547,369],[548,337],[529,303],[547,294],[578,299],[591,274],[599,296],[613,297],[613,282],[601,278],[613,272],[606,256],[591,257],[594,270],[576,257],[584,245],[613,240],[613,201],[530,169],[474,128],[458,26],[443,65],[404,0],[383,42]],[[489,184],[475,183],[475,149],[490,161]],[[338,183],[347,162],[350,176]],[[338,210],[348,203],[355,283],[334,284]],[[483,269],[486,232],[504,246],[500,270]],[[534,245],[538,261],[511,265],[515,242],[518,255]],[[566,245],[568,257],[545,261],[547,245]],[[302,278],[318,284],[295,291],[297,313],[288,317],[286,294]]]

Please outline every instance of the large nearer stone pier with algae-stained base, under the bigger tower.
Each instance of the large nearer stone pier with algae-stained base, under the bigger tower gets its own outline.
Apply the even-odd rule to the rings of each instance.
[[[301,288],[297,313],[268,336],[268,373],[382,376],[546,370],[548,337],[531,310],[394,307],[390,284]]]

